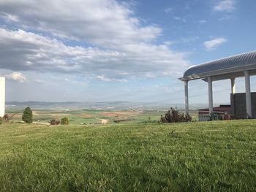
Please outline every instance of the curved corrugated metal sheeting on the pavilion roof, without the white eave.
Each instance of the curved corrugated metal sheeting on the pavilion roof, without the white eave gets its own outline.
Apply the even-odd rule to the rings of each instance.
[[[246,67],[252,64],[256,64],[256,51],[209,61],[205,64],[190,66],[189,69],[184,72],[182,79],[193,79],[191,77],[198,77],[200,74],[217,72],[224,69],[234,69],[239,66]]]

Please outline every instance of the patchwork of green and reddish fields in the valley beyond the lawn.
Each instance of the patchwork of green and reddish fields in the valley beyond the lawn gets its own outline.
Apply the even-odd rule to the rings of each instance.
[[[167,110],[33,110],[34,123],[48,123],[50,119],[69,118],[71,125],[157,123]],[[9,110],[12,120],[22,120],[23,110]],[[192,112],[197,120],[197,112]]]

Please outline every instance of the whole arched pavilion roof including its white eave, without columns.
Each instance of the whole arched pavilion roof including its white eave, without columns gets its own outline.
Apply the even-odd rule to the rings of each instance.
[[[208,61],[204,64],[190,66],[179,80],[197,80],[208,76],[238,73],[252,69],[256,69],[256,51],[232,55],[226,58]],[[237,75],[239,76],[241,74]]]

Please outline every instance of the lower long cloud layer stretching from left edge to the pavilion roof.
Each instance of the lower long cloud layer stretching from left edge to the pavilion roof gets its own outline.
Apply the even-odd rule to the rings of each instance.
[[[71,47],[56,39],[26,31],[0,28],[1,69],[102,76],[109,80],[161,77],[162,71],[182,72],[188,62],[183,53],[167,45],[129,44],[118,50]],[[98,78],[99,79],[99,78]],[[107,80],[103,79],[102,80]]]

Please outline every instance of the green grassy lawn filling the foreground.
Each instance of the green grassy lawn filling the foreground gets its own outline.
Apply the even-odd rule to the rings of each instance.
[[[256,191],[256,120],[0,126],[0,191]]]

